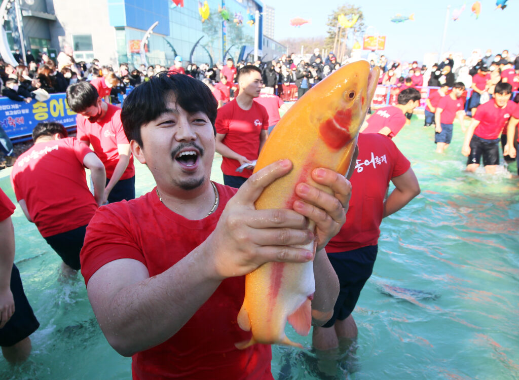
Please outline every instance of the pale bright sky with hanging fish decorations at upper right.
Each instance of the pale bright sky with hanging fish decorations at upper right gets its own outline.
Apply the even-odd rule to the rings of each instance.
[[[274,37],[278,41],[284,38],[326,36],[329,15],[339,6],[352,4],[361,7],[364,24],[370,27],[368,32],[376,31],[386,36],[386,49],[380,54],[390,60],[422,62],[426,53],[440,53],[447,6],[450,5],[444,51],[460,52],[465,58],[475,48],[482,49],[483,53],[486,49],[491,49],[493,53],[508,49],[512,55],[517,55],[519,37],[514,33],[513,26],[519,23],[519,0],[509,0],[504,10],[496,9],[495,0],[480,2],[478,19],[471,12],[474,0],[469,0],[459,20],[453,21],[453,10],[460,9],[463,0],[264,0],[266,5],[275,9]],[[391,22],[391,18],[398,13],[402,16],[414,13],[414,21]],[[311,22],[299,27],[291,26],[290,20],[295,17]],[[362,40],[359,42],[362,44]],[[351,47],[351,43],[348,46]],[[367,54],[367,50],[364,54]]]

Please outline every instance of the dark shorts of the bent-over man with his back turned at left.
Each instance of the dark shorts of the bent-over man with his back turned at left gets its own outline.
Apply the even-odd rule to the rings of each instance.
[[[79,252],[81,252],[81,248],[83,248],[86,230],[87,225],[84,225],[61,234],[47,236],[44,239],[49,246],[60,255],[61,260],[63,260],[66,265],[72,269],[79,270],[81,269]]]

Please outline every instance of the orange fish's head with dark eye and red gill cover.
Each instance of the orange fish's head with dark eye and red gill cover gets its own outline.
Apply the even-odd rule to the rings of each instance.
[[[315,86],[314,90],[322,87],[318,98],[323,99],[326,110],[312,121],[319,126],[320,138],[329,148],[339,150],[357,137],[379,74],[378,66],[370,69],[367,61],[357,61],[340,67]],[[325,87],[326,83],[329,85]]]

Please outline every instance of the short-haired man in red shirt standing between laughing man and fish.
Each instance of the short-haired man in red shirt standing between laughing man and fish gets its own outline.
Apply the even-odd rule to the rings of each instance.
[[[260,96],[263,86],[261,70],[253,65],[243,66],[238,86],[238,96],[218,109],[215,123],[216,152],[223,157],[224,184],[237,188],[251,176],[268,129],[267,110],[253,101]]]

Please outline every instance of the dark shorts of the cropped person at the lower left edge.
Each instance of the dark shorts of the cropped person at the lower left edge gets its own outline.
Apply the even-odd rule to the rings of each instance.
[[[11,292],[15,299],[15,314],[4,328],[0,329],[0,346],[2,347],[10,347],[23,341],[39,327],[39,322],[23,292],[20,272],[15,264],[12,265],[11,270]]]

